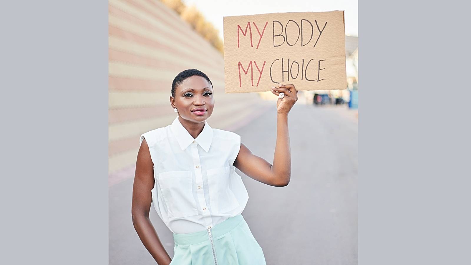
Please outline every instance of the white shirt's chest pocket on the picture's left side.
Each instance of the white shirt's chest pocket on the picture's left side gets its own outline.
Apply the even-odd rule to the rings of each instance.
[[[191,171],[169,171],[159,173],[157,181],[162,197],[171,218],[197,215],[196,201],[193,197],[193,178]]]

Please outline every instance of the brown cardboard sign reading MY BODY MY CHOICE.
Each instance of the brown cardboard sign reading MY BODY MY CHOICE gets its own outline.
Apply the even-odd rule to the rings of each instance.
[[[227,93],[345,89],[343,11],[224,17]]]

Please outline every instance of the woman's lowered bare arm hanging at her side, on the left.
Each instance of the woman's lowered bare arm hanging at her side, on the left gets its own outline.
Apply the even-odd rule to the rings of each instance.
[[[138,236],[158,265],[169,265],[171,258],[162,245],[149,219],[154,188],[154,164],[150,157],[147,141],[142,141],[136,161],[136,174],[132,188],[132,224]]]

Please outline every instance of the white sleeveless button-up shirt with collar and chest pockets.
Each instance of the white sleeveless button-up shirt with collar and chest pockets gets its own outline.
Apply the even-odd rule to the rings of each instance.
[[[143,133],[154,163],[152,202],[171,232],[202,231],[242,213],[249,199],[233,163],[240,136],[212,129],[205,121],[194,139],[175,118]]]

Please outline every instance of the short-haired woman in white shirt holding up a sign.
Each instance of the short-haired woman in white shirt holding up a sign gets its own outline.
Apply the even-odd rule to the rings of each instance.
[[[273,165],[252,154],[239,135],[206,122],[214,107],[208,76],[189,69],[173,80],[170,103],[178,116],[140,137],[132,196],[134,228],[157,264],[266,264],[241,215],[248,194],[235,167],[271,186],[290,181],[288,112],[297,91],[292,84],[271,91],[279,96]],[[173,260],[149,220],[151,202],[173,232]]]

